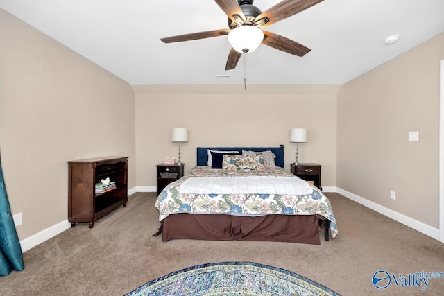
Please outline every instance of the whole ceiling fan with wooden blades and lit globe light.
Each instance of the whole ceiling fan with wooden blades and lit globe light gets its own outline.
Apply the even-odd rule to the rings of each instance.
[[[310,8],[323,0],[284,0],[265,12],[261,12],[259,8],[253,6],[254,0],[214,1],[228,16],[229,28],[165,37],[160,40],[165,43],[171,43],[228,35],[228,41],[232,45],[232,49],[228,55],[225,70],[231,70],[236,67],[242,53],[254,51],[260,43],[300,57],[308,53],[311,49],[306,46],[281,35],[264,31],[261,28],[282,21],[282,19],[291,17],[291,15],[296,15],[296,13]],[[255,43],[249,44],[250,38],[255,38]],[[237,44],[237,42],[241,42],[241,44]]]

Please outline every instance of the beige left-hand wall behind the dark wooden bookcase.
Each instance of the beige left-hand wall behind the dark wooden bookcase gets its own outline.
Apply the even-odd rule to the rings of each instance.
[[[0,149],[20,239],[67,219],[67,161],[128,155],[135,186],[134,92],[127,82],[0,9]]]

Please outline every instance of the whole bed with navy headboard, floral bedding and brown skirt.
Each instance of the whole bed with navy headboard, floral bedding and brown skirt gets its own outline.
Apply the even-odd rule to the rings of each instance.
[[[221,167],[222,166],[222,167]],[[197,165],[158,195],[162,241],[319,245],[338,233],[330,200],[284,171],[284,146],[198,147]],[[257,191],[257,192],[255,192]]]

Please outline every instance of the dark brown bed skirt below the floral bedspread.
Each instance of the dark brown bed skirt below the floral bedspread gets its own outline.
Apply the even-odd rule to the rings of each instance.
[[[172,214],[162,220],[162,241],[176,238],[207,241],[281,241],[320,245],[320,215],[231,216]]]

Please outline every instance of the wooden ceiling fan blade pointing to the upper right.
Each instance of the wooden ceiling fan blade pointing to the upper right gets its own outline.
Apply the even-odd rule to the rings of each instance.
[[[270,26],[271,24],[282,21],[282,19],[286,19],[287,17],[291,17],[291,15],[296,15],[296,13],[306,10],[322,1],[323,0],[284,0],[258,15],[255,22],[262,23],[262,28]],[[268,22],[260,21],[264,18],[267,18]]]

